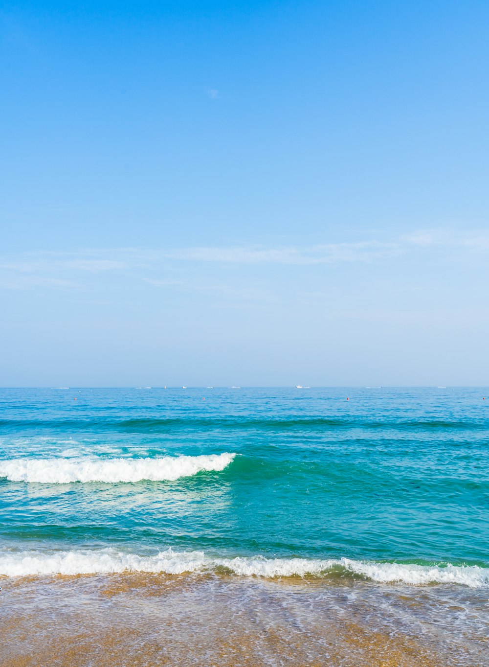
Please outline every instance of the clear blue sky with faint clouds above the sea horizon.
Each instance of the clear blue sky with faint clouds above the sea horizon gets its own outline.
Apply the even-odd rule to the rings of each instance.
[[[0,386],[487,386],[489,5],[0,10]]]

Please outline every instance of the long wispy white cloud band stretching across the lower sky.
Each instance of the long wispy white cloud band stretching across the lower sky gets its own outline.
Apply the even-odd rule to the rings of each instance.
[[[199,265],[215,264],[225,270],[231,265],[368,265],[389,261],[465,261],[464,258],[486,257],[489,233],[486,231],[418,230],[390,239],[354,242],[320,243],[316,245],[199,246],[181,248],[109,248],[81,249],[72,252],[30,251],[0,257],[0,286],[58,289],[96,285],[100,274],[128,278],[175,289],[200,290],[225,295],[227,279],[217,283],[201,282],[197,275],[206,275]],[[221,269],[219,269],[221,270]],[[208,273],[207,273],[208,275]],[[254,295],[256,297],[256,293]]]

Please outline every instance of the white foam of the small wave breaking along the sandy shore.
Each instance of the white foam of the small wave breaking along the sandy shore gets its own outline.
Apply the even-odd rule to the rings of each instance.
[[[115,572],[227,571],[240,576],[326,577],[332,571],[357,574],[381,583],[411,585],[461,584],[470,588],[489,588],[489,568],[479,566],[424,566],[375,563],[348,558],[310,560],[305,558],[212,558],[203,552],[176,552],[172,549],[153,556],[141,556],[112,548],[57,552],[0,552],[0,575],[42,576],[53,574],[111,574]]]

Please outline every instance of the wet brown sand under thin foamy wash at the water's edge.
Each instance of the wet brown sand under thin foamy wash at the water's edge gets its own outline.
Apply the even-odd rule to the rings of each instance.
[[[0,582],[2,667],[482,667],[481,594],[117,574]],[[471,618],[472,616],[472,618]]]

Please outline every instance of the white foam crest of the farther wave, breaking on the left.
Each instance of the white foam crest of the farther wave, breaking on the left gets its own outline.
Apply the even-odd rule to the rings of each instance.
[[[178,480],[202,471],[220,471],[236,454],[204,456],[162,456],[160,458],[50,458],[0,461],[0,478],[11,482],[141,482]]]

